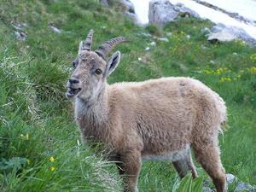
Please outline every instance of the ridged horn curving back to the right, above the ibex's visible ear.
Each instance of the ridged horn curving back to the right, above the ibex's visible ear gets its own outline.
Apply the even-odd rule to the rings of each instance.
[[[106,60],[106,56],[113,49],[113,47],[121,42],[127,42],[127,39],[124,37],[111,38],[104,44],[102,44],[98,49],[96,49],[96,54],[102,56]]]

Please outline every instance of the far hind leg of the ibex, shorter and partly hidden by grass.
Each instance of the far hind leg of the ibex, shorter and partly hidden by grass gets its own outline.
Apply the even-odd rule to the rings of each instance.
[[[192,173],[192,177],[198,177],[190,152],[183,156],[182,159],[173,161],[172,164],[175,167],[179,177],[183,178],[189,172]]]

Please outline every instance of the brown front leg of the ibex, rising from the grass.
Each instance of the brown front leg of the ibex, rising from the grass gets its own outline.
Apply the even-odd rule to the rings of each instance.
[[[124,191],[137,192],[137,178],[140,173],[142,158],[141,153],[137,150],[132,150],[120,155],[122,164],[119,166],[120,172],[124,175]]]

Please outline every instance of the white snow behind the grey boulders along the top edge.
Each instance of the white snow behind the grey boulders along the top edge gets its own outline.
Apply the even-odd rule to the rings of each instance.
[[[244,23],[231,18],[217,10],[207,8],[206,6],[196,3],[192,0],[169,0],[171,3],[183,3],[189,9],[195,10],[202,18],[212,20],[214,23],[223,23],[225,26],[236,26],[244,29],[248,35],[256,39],[256,26]],[[249,19],[256,20],[256,1],[255,0],[203,0],[211,3],[221,9],[229,12],[238,13],[239,15]],[[135,12],[139,20],[146,24],[148,23],[148,3],[150,0],[131,0],[134,4]]]

